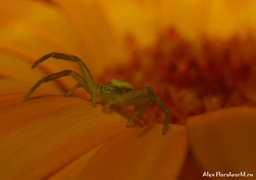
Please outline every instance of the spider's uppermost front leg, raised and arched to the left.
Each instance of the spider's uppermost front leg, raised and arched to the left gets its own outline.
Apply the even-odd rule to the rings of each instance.
[[[93,101],[93,106],[96,106],[96,84],[93,80],[93,76],[90,73],[90,70],[87,68],[87,66],[84,64],[84,62],[79,59],[77,56],[73,56],[73,55],[67,55],[67,54],[63,54],[63,53],[49,53],[47,55],[44,55],[43,57],[41,57],[40,59],[38,59],[33,65],[32,65],[32,69],[34,69],[39,63],[49,59],[50,57],[53,57],[55,59],[62,59],[62,60],[67,60],[67,61],[72,61],[72,62],[76,62],[77,65],[79,66],[82,74],[84,75],[84,80],[87,84],[87,87],[89,88],[90,92],[92,92],[92,101]]]

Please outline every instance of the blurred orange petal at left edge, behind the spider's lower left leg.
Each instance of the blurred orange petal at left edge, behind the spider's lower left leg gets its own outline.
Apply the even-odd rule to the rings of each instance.
[[[44,76],[44,73],[38,68],[32,70],[31,64],[24,59],[8,56],[4,53],[0,53],[0,67],[0,95],[28,93],[33,85]],[[64,94],[64,89],[60,83],[52,81],[43,84],[35,92],[41,95]],[[33,96],[35,95],[32,94]]]

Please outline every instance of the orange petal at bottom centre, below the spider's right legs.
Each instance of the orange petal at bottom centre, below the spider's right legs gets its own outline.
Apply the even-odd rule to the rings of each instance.
[[[80,179],[160,180],[178,177],[187,155],[185,127],[162,124],[125,131],[105,143],[89,161]]]

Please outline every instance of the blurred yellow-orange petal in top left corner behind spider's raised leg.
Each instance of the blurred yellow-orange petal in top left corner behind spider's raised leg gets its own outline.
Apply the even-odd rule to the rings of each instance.
[[[0,49],[2,53],[15,57],[12,59],[22,59],[29,64],[26,72],[32,72],[30,69],[32,64],[52,51],[76,55],[83,59],[89,68],[94,66],[93,59],[85,53],[81,37],[59,11],[56,6],[47,6],[46,3],[40,1],[0,2],[0,17],[2,17],[0,18],[0,35],[3,37],[0,41]],[[1,64],[6,61],[8,66],[14,64],[6,58],[1,61]],[[43,76],[62,70],[76,70],[81,74],[76,63],[64,60],[49,59],[49,62],[38,65],[36,69],[41,71]],[[18,75],[18,72],[16,73]],[[63,79],[59,81],[69,89],[75,85],[74,81],[73,84]]]

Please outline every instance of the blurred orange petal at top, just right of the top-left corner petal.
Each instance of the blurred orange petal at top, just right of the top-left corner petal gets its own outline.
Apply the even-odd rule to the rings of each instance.
[[[74,26],[83,41],[84,60],[93,73],[99,74],[105,66],[124,61],[123,44],[117,42],[111,20],[105,14],[101,2],[96,0],[53,0]],[[123,43],[122,39],[122,43]],[[80,54],[77,54],[80,56]],[[126,59],[127,60],[127,59]]]

